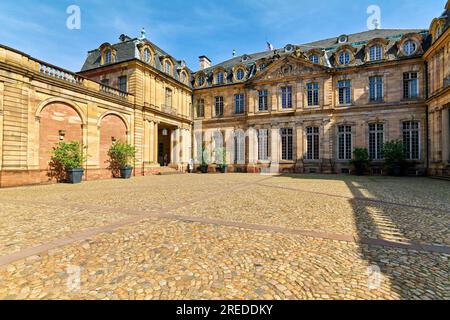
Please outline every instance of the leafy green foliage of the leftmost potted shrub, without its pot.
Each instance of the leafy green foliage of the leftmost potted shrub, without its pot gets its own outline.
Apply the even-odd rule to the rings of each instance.
[[[52,163],[64,170],[83,168],[85,157],[79,141],[59,142],[52,151]]]

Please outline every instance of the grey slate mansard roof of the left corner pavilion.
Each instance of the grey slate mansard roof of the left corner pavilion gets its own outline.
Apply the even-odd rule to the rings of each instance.
[[[116,51],[116,57],[114,63],[121,63],[125,61],[130,61],[133,59],[141,60],[139,47],[141,45],[148,44],[151,46],[155,53],[153,67],[158,69],[159,71],[164,72],[164,67],[162,65],[163,58],[169,58],[174,63],[174,72],[171,76],[177,81],[180,81],[180,74],[177,72],[181,69],[186,69],[188,74],[191,74],[191,70],[189,70],[183,60],[177,60],[161,48],[159,48],[157,45],[155,45],[153,42],[147,40],[147,39],[138,39],[138,38],[129,38],[127,36],[122,35],[121,42],[110,45],[115,51]],[[101,48],[91,50],[88,52],[88,57],[86,58],[86,61],[84,62],[83,67],[81,68],[81,72],[83,71],[89,71],[97,68],[104,67],[104,65],[101,64]],[[190,84],[190,81],[189,81]]]

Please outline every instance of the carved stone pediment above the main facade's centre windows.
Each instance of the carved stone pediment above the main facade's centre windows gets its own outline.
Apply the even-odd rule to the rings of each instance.
[[[277,80],[287,77],[302,77],[310,74],[325,73],[329,68],[314,64],[306,57],[289,56],[271,64],[266,70],[256,75],[253,81]]]

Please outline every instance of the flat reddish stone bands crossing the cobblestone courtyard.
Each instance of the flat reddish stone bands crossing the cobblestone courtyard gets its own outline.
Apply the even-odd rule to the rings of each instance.
[[[270,179],[270,178],[265,178],[263,180],[267,180],[267,179]],[[240,188],[246,187],[248,185],[252,185],[252,184],[258,184],[258,182],[237,184],[236,188],[233,188],[233,190],[230,190],[229,192],[235,192],[237,189],[240,189]],[[284,187],[281,187],[281,188],[285,189]],[[295,190],[297,190],[297,189],[295,189]],[[304,191],[304,192],[307,192],[307,191]],[[223,194],[223,192],[221,191],[220,194]],[[247,230],[267,231],[267,232],[282,233],[282,234],[289,234],[289,235],[298,235],[298,236],[312,237],[312,238],[318,238],[318,239],[324,239],[324,240],[335,240],[335,241],[342,241],[342,242],[355,243],[355,244],[366,244],[366,245],[370,245],[370,246],[383,246],[383,247],[390,247],[390,248],[396,248],[396,249],[413,250],[413,251],[418,251],[418,252],[450,254],[449,246],[439,246],[439,245],[432,245],[432,244],[418,244],[418,243],[400,243],[400,242],[394,242],[394,241],[388,241],[388,240],[382,240],[382,239],[374,239],[374,238],[358,238],[358,237],[354,237],[354,236],[321,232],[321,231],[286,229],[286,228],[276,227],[276,226],[266,226],[266,225],[258,225],[258,224],[251,224],[251,223],[233,222],[233,221],[226,221],[226,220],[221,220],[221,219],[211,219],[211,218],[204,218],[204,217],[190,217],[190,216],[182,216],[182,215],[170,213],[171,211],[173,211],[175,209],[180,209],[180,208],[189,206],[191,204],[197,203],[199,201],[204,201],[205,199],[207,199],[209,197],[214,197],[214,196],[216,196],[216,193],[210,194],[206,198],[195,199],[192,201],[184,201],[177,205],[163,208],[159,211],[143,211],[143,210],[128,210],[127,209],[126,212],[133,215],[132,217],[130,217],[128,219],[124,219],[124,220],[121,220],[121,221],[118,221],[115,223],[111,223],[111,224],[108,224],[105,226],[101,226],[98,228],[93,228],[93,229],[89,229],[89,230],[83,230],[80,232],[76,232],[73,235],[70,235],[68,237],[56,239],[56,240],[50,241],[50,242],[40,245],[40,246],[27,248],[27,249],[23,249],[19,252],[0,256],[0,267],[8,265],[13,262],[16,262],[18,260],[22,260],[22,259],[26,259],[31,256],[42,254],[49,250],[53,250],[53,249],[57,249],[62,246],[69,245],[69,244],[77,242],[77,241],[87,240],[87,239],[92,238],[101,233],[113,232],[121,227],[138,223],[144,219],[167,219],[167,220],[176,220],[176,221],[182,221],[182,222],[196,222],[196,223],[219,225],[219,226],[226,226],[226,227],[233,227],[233,228],[240,228],[240,229],[247,229]],[[344,197],[344,198],[354,199],[351,197]],[[366,199],[363,199],[363,200],[366,200]],[[28,201],[27,203],[51,205],[50,202]],[[393,203],[393,204],[395,204],[395,203]],[[395,205],[400,205],[400,204],[395,204]],[[65,207],[67,207],[67,205]],[[109,211],[109,212],[123,212],[124,211],[123,209],[119,209],[119,208],[89,206],[89,205],[73,205],[71,207],[87,209],[87,210],[102,210],[102,211]]]

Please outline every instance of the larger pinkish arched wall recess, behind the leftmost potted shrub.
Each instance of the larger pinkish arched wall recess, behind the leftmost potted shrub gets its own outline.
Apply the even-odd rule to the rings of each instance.
[[[70,105],[52,102],[39,114],[39,169],[44,181],[52,180],[49,163],[52,150],[60,141],[83,142],[82,120]]]

